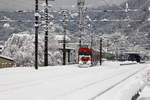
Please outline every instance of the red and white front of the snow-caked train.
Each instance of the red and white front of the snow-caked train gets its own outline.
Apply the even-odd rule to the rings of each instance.
[[[78,49],[78,62],[80,67],[89,67],[92,65],[92,49],[79,48]]]

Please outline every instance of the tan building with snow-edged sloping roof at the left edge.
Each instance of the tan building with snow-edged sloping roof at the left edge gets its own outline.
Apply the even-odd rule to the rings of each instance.
[[[9,57],[0,55],[0,68],[12,67],[14,65],[14,60]]]

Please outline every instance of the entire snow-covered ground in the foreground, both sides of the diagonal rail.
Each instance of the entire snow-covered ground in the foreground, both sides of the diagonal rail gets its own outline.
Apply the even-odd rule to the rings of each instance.
[[[0,100],[131,100],[145,87],[144,75],[149,69],[149,64],[120,66],[118,62],[91,68],[0,69]]]

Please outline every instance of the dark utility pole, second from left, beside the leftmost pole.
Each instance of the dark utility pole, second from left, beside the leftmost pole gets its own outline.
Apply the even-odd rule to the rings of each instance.
[[[44,49],[44,66],[48,66],[48,0],[45,0],[45,49]]]

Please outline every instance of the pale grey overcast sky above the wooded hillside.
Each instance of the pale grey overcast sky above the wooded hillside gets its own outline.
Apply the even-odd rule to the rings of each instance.
[[[39,0],[42,1],[42,0]],[[55,0],[53,2],[54,6],[57,7],[71,7],[71,5],[76,5],[77,0]],[[100,5],[106,5],[104,1],[108,4],[120,4],[125,0],[85,0],[86,5],[89,7],[95,7]],[[52,3],[52,2],[49,2]],[[0,10],[31,10],[34,9],[34,0],[0,0]]]

